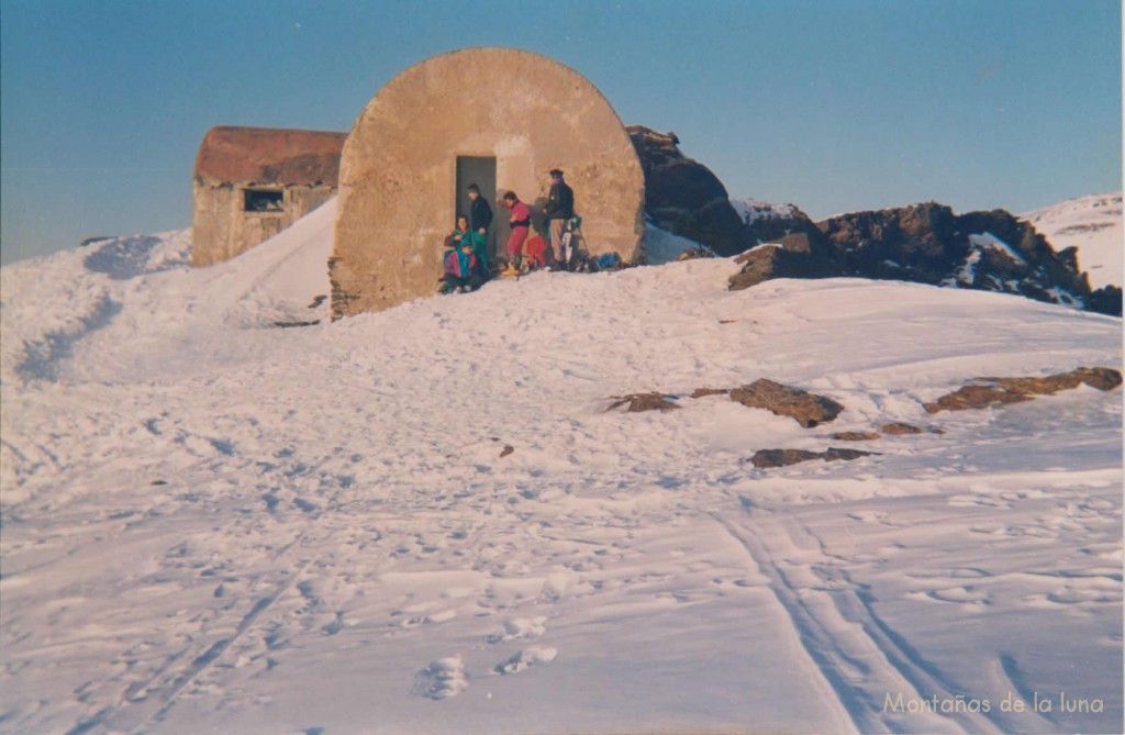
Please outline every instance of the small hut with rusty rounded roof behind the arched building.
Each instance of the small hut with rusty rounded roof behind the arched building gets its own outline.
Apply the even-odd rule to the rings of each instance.
[[[234,258],[336,194],[345,133],[213,127],[196,156],[191,261]]]

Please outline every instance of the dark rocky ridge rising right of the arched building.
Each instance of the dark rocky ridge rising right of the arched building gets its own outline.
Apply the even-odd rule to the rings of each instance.
[[[957,215],[948,206],[925,203],[814,223],[790,207],[783,216],[744,219],[719,178],[680,152],[674,133],[641,125],[627,129],[645,171],[649,219],[720,256],[742,253],[731,289],[772,278],[857,277],[991,290],[1122,314],[1119,287],[1092,290],[1073,248],[1056,252],[1033,225],[1004,209]],[[758,248],[763,243],[771,245]]]

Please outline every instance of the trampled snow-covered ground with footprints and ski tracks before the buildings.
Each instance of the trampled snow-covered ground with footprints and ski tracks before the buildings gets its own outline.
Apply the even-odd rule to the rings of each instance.
[[[1122,730],[1120,391],[922,409],[1119,319],[708,259],[330,324],[330,206],[0,271],[0,730]],[[687,397],[760,377],[846,410]]]

